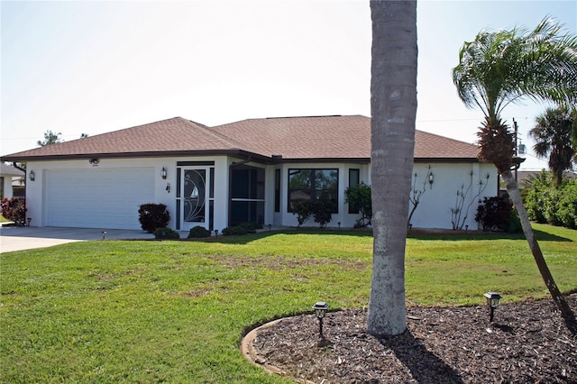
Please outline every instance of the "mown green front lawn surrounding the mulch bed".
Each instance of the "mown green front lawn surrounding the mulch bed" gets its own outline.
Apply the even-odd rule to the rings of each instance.
[[[535,228],[559,287],[577,290],[577,231]],[[319,299],[366,306],[371,248],[367,232],[288,231],[2,254],[0,381],[291,382],[245,361],[243,334]],[[519,235],[410,235],[406,264],[409,305],[548,295]]]

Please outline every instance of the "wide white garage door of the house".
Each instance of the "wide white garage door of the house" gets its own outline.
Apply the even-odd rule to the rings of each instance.
[[[47,225],[141,229],[138,207],[153,203],[154,169],[49,170]]]

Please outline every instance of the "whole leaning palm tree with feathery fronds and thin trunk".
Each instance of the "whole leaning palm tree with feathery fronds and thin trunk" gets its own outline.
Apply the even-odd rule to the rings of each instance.
[[[515,143],[500,117],[505,106],[523,97],[556,104],[575,102],[577,37],[560,32],[559,23],[551,19],[530,32],[481,32],[474,41],[463,44],[459,65],[453,69],[453,83],[464,105],[478,107],[485,115],[478,133],[479,158],[494,163],[504,179],[545,285],[574,330],[572,310],[547,267],[511,173]]]

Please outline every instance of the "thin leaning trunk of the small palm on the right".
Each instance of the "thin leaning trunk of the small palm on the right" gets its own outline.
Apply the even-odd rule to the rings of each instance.
[[[502,172],[501,177],[505,181],[508,196],[513,202],[515,209],[517,209],[517,214],[519,215],[519,220],[521,221],[521,226],[523,227],[523,233],[525,233],[525,237],[529,243],[529,249],[531,250],[531,253],[533,253],[533,258],[535,259],[537,268],[539,269],[539,272],[541,272],[541,277],[545,281],[545,286],[549,289],[549,293],[551,293],[551,297],[553,297],[555,305],[561,311],[565,322],[569,326],[572,333],[575,334],[575,315],[573,314],[571,307],[567,304],[565,297],[563,297],[563,294],[555,284],[553,275],[547,266],[545,257],[543,256],[543,252],[541,251],[541,247],[539,247],[539,243],[537,242],[535,233],[533,232],[533,227],[529,221],[527,210],[525,209],[525,206],[523,206],[521,193],[517,187],[515,177],[510,170],[505,170]]]

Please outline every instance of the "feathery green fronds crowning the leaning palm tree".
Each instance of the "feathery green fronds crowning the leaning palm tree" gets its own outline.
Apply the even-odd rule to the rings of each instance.
[[[577,36],[545,18],[533,31],[480,32],[459,51],[453,84],[463,104],[485,117],[524,98],[537,102],[577,101]]]

